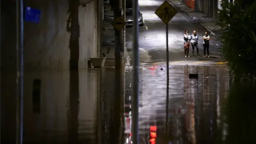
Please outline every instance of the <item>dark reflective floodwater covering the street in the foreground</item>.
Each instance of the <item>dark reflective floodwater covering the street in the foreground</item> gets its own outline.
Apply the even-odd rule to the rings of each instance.
[[[114,72],[25,72],[24,144],[115,143],[121,134],[113,124],[113,105],[120,103],[114,96]],[[198,79],[189,74],[198,74]],[[15,74],[2,73],[1,78],[1,143],[9,144],[16,138]],[[210,144],[216,138],[229,79],[226,66],[170,68],[166,111],[166,70],[140,70],[140,143],[149,144],[150,126],[157,126],[156,143],[167,138],[172,144]],[[125,89],[123,143],[132,144],[132,70],[126,70]]]

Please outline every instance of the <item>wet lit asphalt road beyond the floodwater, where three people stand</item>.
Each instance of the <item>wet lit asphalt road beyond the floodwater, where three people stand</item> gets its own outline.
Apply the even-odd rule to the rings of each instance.
[[[166,25],[156,16],[155,10],[164,0],[139,0],[139,10],[144,19],[144,26],[139,28],[140,62],[155,63],[166,60]],[[174,6],[173,6],[174,7]],[[175,8],[175,7],[174,7]],[[169,58],[172,61],[220,61],[220,58],[203,58],[202,37],[206,29],[192,20],[182,10],[168,24]],[[197,31],[201,57],[184,57],[183,35],[185,30],[192,34]],[[219,56],[214,38],[210,40],[210,55]],[[126,43],[128,50],[132,48],[132,28],[126,28]],[[196,51],[195,51],[196,53]],[[190,48],[190,56],[192,48]],[[130,56],[132,54],[130,53]]]

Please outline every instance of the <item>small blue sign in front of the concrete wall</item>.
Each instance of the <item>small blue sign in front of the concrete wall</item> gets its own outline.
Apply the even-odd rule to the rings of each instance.
[[[25,8],[25,21],[39,23],[41,11],[35,8],[26,7]]]

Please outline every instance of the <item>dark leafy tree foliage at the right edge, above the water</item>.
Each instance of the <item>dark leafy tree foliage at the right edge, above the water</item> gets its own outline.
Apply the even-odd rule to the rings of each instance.
[[[256,0],[223,0],[218,25],[226,30],[222,52],[237,76],[256,76]]]

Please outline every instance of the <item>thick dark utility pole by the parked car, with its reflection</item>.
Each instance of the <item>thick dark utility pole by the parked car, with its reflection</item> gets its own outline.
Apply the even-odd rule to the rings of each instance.
[[[114,1],[114,20],[122,18],[123,0]],[[115,94],[113,103],[113,121],[110,138],[112,144],[124,142],[124,94],[125,94],[125,70],[124,70],[124,36],[123,28],[115,29]],[[118,134],[118,135],[116,135]],[[117,138],[116,138],[117,137]]]

